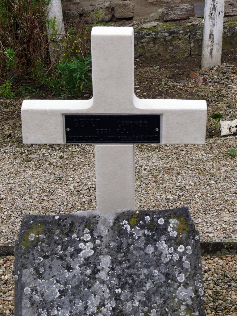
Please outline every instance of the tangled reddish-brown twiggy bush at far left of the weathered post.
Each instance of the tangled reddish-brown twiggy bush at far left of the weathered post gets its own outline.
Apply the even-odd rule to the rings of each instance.
[[[48,63],[45,29],[49,0],[0,0],[0,72],[15,67],[15,75],[27,72],[37,60]]]

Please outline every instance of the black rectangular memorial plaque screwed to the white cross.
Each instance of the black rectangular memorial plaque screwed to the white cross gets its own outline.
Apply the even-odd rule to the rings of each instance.
[[[160,143],[160,115],[65,115],[66,143]]]

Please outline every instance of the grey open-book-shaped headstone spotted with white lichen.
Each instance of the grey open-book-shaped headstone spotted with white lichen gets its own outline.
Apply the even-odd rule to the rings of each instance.
[[[25,215],[15,316],[204,315],[188,208]]]

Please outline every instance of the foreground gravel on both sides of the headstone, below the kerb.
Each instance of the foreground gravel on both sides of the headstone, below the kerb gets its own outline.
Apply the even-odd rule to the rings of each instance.
[[[207,315],[237,315],[237,256],[202,257]],[[14,257],[0,257],[0,315],[14,315]]]

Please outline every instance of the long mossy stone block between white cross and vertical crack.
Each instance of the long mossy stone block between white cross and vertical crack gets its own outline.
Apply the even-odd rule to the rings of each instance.
[[[134,33],[135,56],[190,56],[189,32],[177,26],[141,28]]]

